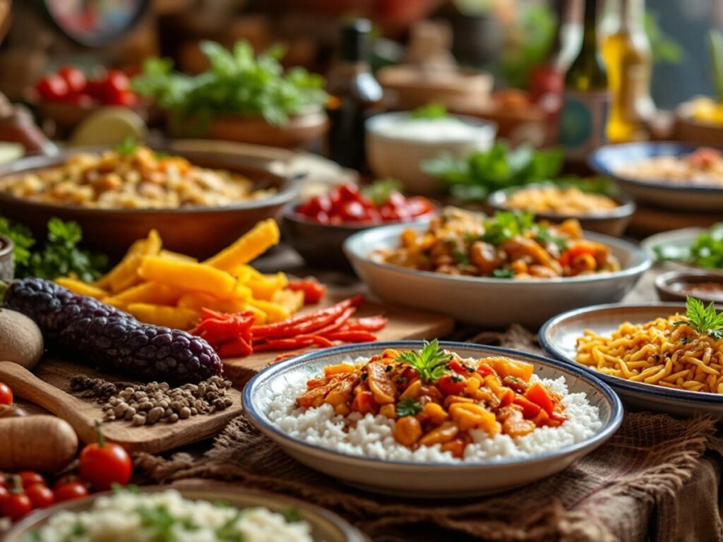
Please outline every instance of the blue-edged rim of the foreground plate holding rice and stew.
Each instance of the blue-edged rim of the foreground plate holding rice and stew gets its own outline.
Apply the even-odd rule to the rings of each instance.
[[[296,446],[304,447],[315,452],[322,452],[323,454],[344,457],[346,460],[351,460],[356,463],[375,463],[377,465],[393,465],[394,468],[471,468],[471,467],[502,467],[505,465],[524,465],[529,463],[537,463],[543,460],[549,460],[555,457],[565,456],[574,452],[578,452],[581,449],[589,447],[594,443],[601,443],[607,441],[612,434],[617,431],[620,427],[620,423],[623,421],[623,403],[620,401],[620,397],[610,388],[607,384],[596,378],[595,375],[590,374],[588,371],[583,371],[575,366],[569,366],[563,364],[560,361],[544,358],[542,356],[536,356],[531,353],[521,352],[520,350],[510,350],[509,348],[497,348],[495,346],[483,346],[476,345],[473,343],[455,343],[451,341],[441,341],[440,346],[448,350],[455,350],[457,348],[464,348],[466,350],[476,350],[480,354],[492,354],[492,355],[507,355],[515,358],[533,361],[536,364],[546,365],[556,369],[559,373],[558,376],[564,377],[576,377],[593,387],[594,390],[602,396],[602,398],[608,403],[610,408],[609,420],[598,429],[595,434],[589,436],[581,442],[576,444],[570,444],[562,448],[552,450],[550,452],[544,452],[539,455],[532,455],[529,457],[517,457],[514,459],[501,459],[501,460],[487,460],[487,461],[470,461],[465,463],[435,463],[429,461],[399,461],[399,460],[383,460],[377,459],[376,457],[365,457],[361,455],[347,454],[338,452],[333,449],[316,446],[309,444],[308,442],[297,439],[296,437],[289,436],[284,433],[281,429],[275,426],[274,423],[268,421],[265,413],[260,412],[257,405],[254,403],[254,396],[257,395],[257,388],[264,385],[268,379],[271,379],[275,374],[294,366],[306,364],[309,361],[315,360],[320,357],[342,356],[348,355],[354,352],[374,350],[384,350],[385,348],[421,348],[422,341],[419,340],[402,340],[402,341],[389,341],[382,343],[361,343],[356,345],[337,346],[334,348],[326,348],[325,350],[315,350],[309,353],[301,354],[301,356],[295,356],[288,358],[285,361],[280,361],[278,364],[273,364],[266,369],[260,371],[260,373],[254,375],[252,379],[244,387],[244,392],[241,395],[244,405],[244,413],[249,420],[257,426],[258,429],[266,434],[274,434],[282,440],[293,442]]]

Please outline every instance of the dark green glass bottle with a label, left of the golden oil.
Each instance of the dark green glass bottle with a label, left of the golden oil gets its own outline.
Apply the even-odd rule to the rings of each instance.
[[[598,0],[585,0],[583,43],[565,74],[559,134],[565,158],[571,162],[582,162],[607,141],[610,95],[597,43],[597,4]]]

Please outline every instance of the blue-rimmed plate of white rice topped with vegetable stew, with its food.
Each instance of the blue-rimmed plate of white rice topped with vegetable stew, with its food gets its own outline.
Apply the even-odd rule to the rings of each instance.
[[[578,367],[514,350],[401,341],[328,348],[269,366],[244,413],[301,463],[414,497],[504,491],[602,445],[620,399]]]

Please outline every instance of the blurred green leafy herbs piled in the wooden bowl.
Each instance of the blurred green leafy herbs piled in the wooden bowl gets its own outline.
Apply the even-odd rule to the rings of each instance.
[[[133,89],[155,98],[161,108],[179,113],[181,119],[201,123],[216,116],[242,114],[283,125],[289,116],[321,106],[327,99],[319,75],[300,67],[283,71],[281,46],[254,56],[246,41],[239,41],[231,51],[204,41],[201,51],[210,64],[208,72],[181,74],[173,71],[168,59],[150,59],[142,74],[133,79]]]

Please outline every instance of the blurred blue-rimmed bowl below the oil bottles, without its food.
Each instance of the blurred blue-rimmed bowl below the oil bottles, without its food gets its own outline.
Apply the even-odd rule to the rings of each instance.
[[[667,179],[641,181],[616,173],[622,165],[641,162],[656,156],[682,156],[699,147],[677,142],[625,143],[599,147],[590,155],[589,164],[597,173],[615,178],[618,186],[636,202],[673,210],[720,211],[723,209],[723,184],[680,183]]]

